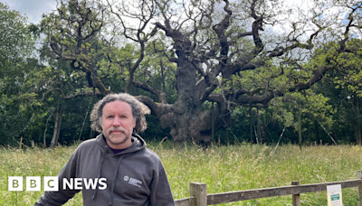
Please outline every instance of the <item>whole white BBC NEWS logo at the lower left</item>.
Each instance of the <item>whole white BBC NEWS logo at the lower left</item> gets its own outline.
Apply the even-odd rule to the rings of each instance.
[[[8,177],[8,191],[23,191],[22,176],[9,176]],[[42,180],[40,176],[27,176],[26,177],[26,191],[41,191]],[[62,190],[95,190],[98,186],[99,190],[107,189],[106,178],[63,178]],[[57,176],[43,177],[44,191],[59,191],[59,179]]]

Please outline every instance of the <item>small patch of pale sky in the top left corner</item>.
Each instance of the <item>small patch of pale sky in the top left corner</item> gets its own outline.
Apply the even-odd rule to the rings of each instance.
[[[30,23],[39,23],[43,13],[50,13],[55,9],[53,0],[0,0],[11,10],[26,14]]]

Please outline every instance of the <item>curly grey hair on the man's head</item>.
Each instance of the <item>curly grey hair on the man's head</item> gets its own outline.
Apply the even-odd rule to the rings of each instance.
[[[92,129],[102,132],[101,117],[103,114],[103,108],[107,103],[112,101],[124,101],[128,103],[132,108],[133,120],[136,120],[135,132],[141,133],[145,131],[147,128],[147,122],[143,113],[143,104],[140,103],[137,98],[134,98],[127,93],[109,94],[94,105],[90,113],[90,121],[93,122],[90,125]]]

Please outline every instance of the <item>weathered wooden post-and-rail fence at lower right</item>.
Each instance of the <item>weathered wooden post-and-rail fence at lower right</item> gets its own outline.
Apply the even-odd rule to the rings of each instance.
[[[291,182],[291,186],[214,194],[207,194],[207,185],[205,183],[190,183],[190,197],[176,200],[175,204],[176,206],[206,206],[233,201],[247,201],[281,195],[292,195],[293,206],[300,206],[300,193],[327,191],[327,186],[333,184],[341,184],[342,189],[358,187],[359,206],[362,206],[362,171],[357,171],[357,180],[301,185],[298,181],[293,181]]]

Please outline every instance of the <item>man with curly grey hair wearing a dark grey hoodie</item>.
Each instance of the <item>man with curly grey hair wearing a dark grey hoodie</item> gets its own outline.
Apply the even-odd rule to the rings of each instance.
[[[159,157],[135,133],[147,127],[140,103],[129,94],[110,94],[95,104],[91,127],[102,134],[84,141],[58,174],[59,192],[44,192],[34,206],[62,205],[80,190],[63,190],[63,180],[105,178],[107,188],[84,189],[86,206],[175,205]],[[100,185],[98,185],[100,186]]]

